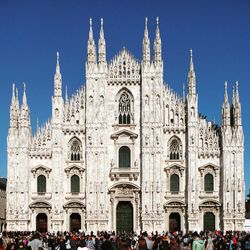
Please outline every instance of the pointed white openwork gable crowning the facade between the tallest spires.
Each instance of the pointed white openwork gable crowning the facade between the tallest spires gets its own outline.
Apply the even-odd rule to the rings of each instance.
[[[109,83],[140,83],[140,63],[125,48],[114,56],[108,68]]]

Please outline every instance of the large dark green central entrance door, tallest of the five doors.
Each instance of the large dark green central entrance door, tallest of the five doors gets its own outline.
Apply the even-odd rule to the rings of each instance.
[[[133,231],[133,207],[129,201],[120,201],[116,207],[116,233]]]

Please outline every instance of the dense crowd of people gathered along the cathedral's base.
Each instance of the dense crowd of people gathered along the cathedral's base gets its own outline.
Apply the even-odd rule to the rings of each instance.
[[[3,232],[0,250],[212,250],[250,249],[246,232],[181,232],[147,233],[140,235],[115,232]]]

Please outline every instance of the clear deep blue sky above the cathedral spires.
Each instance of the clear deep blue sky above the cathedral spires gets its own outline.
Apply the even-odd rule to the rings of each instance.
[[[12,82],[27,84],[33,133],[51,116],[56,51],[69,94],[85,82],[89,18],[96,42],[104,18],[107,57],[123,46],[141,59],[145,17],[151,45],[160,18],[165,81],[182,93],[193,49],[199,111],[221,122],[224,81],[239,81],[245,132],[245,179],[250,188],[250,1],[123,0],[0,1],[0,176],[7,175],[6,138]]]

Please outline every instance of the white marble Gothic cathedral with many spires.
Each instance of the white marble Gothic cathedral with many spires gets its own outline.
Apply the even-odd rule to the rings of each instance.
[[[96,48],[97,47],[97,48]],[[159,20],[142,60],[106,59],[90,19],[86,83],[62,96],[57,53],[51,118],[32,134],[26,90],[13,84],[7,230],[242,230],[244,135],[238,83],[225,83],[221,126],[199,114],[192,50],[187,93],[163,79]],[[223,93],[222,93],[223,94]]]

